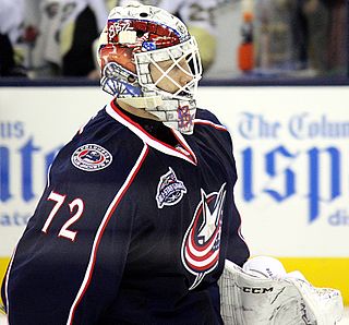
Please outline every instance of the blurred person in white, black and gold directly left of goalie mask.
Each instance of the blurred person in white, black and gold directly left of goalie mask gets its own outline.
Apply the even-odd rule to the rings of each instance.
[[[32,2],[32,1],[27,1]],[[33,49],[35,76],[87,76],[95,69],[93,41],[107,20],[105,0],[35,0],[27,3],[38,37]]]

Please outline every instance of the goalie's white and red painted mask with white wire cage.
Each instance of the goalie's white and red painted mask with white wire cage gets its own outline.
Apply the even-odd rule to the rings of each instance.
[[[202,64],[179,19],[139,2],[116,7],[100,35],[98,59],[105,92],[181,133],[193,132]]]

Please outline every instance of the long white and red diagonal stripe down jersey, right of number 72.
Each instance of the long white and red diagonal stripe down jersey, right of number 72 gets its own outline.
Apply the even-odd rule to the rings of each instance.
[[[89,255],[89,262],[88,262],[88,266],[87,266],[87,269],[86,269],[86,273],[85,273],[85,276],[84,276],[84,280],[83,280],[83,282],[82,282],[82,285],[80,287],[80,290],[79,290],[79,292],[77,292],[77,294],[75,297],[75,300],[74,300],[74,302],[73,302],[73,304],[72,304],[72,306],[70,309],[70,313],[69,313],[69,318],[68,318],[67,325],[73,324],[73,318],[74,318],[74,314],[75,314],[76,308],[77,308],[79,303],[81,302],[81,300],[83,299],[83,297],[84,297],[84,294],[85,294],[85,292],[86,292],[86,290],[87,290],[87,288],[89,286],[89,282],[91,282],[92,276],[93,276],[93,272],[94,272],[94,267],[95,267],[95,264],[96,264],[98,246],[99,246],[101,237],[104,234],[104,231],[105,231],[106,227],[108,226],[108,222],[109,222],[112,214],[115,213],[116,208],[118,207],[120,201],[122,200],[123,195],[125,194],[125,192],[128,191],[128,189],[132,184],[135,176],[140,171],[140,169],[141,169],[146,156],[148,155],[148,152],[149,152],[149,147],[147,145],[145,145],[143,147],[143,151],[142,151],[137,161],[133,166],[128,179],[124,181],[123,185],[120,188],[120,190],[118,191],[118,193],[115,196],[113,201],[109,205],[109,207],[107,209],[107,213],[106,213],[105,217],[103,218],[101,224],[98,227],[97,234],[95,237],[94,244],[93,244],[93,248],[92,248],[92,252],[91,252],[91,255]]]

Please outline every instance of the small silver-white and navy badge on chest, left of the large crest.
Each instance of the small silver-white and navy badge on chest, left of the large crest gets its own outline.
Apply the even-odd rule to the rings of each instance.
[[[182,181],[178,180],[172,168],[169,167],[169,171],[161,176],[157,185],[156,202],[158,208],[163,208],[164,205],[174,205],[181,201],[186,189]]]

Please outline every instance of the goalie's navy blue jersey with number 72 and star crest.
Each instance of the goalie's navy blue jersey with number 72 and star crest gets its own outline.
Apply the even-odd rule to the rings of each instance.
[[[10,325],[221,324],[225,258],[249,250],[228,131],[192,135],[113,103],[57,155],[2,286]]]

